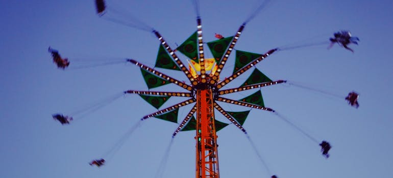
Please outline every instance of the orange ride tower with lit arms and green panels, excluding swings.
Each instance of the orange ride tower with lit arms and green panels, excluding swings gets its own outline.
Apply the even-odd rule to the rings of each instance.
[[[286,81],[273,81],[255,68],[253,73],[241,86],[221,90],[223,86],[233,81],[244,72],[253,69],[253,66],[278,49],[271,49],[264,54],[236,50],[235,68],[232,75],[220,80],[220,72],[227,63],[231,52],[235,50],[234,46],[244,29],[245,23],[240,25],[234,36],[226,38],[223,37],[215,41],[207,42],[207,46],[209,47],[213,58],[205,58],[200,18],[197,19],[197,23],[197,31],[175,50],[169,47],[167,41],[165,41],[159,32],[155,30],[153,31],[160,41],[155,67],[182,71],[187,76],[191,84],[177,80],[159,72],[155,68],[146,66],[135,60],[127,60],[141,69],[143,78],[149,89],[173,83],[184,88],[188,92],[129,90],[126,93],[140,95],[144,100],[155,106],[157,109],[161,107],[169,97],[188,97],[189,99],[183,102],[145,115],[142,117],[142,120],[150,117],[156,117],[169,122],[178,123],[179,108],[194,103],[192,109],[173,133],[173,137],[175,137],[180,131],[195,130],[195,177],[219,178],[216,132],[229,124],[215,120],[214,110],[217,110],[219,113],[228,118],[233,125],[245,134],[247,134],[247,132],[242,125],[250,111],[226,111],[217,103],[217,101],[274,112],[273,109],[264,106],[260,91],[240,100],[224,98],[222,95],[253,90]],[[179,59],[176,51],[179,51],[188,57],[188,68],[186,68],[183,62]],[[207,71],[210,72],[207,73]],[[194,117],[195,113],[196,118]]]

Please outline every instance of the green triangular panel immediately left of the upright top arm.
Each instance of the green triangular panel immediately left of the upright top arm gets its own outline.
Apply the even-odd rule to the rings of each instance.
[[[199,63],[198,60],[198,34],[193,33],[186,41],[184,41],[178,48],[181,53],[190,58],[192,61]]]

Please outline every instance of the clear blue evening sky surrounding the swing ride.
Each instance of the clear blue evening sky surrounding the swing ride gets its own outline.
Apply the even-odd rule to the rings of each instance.
[[[157,29],[173,48],[196,31],[192,1],[107,2]],[[234,35],[259,5],[256,0],[201,1],[204,41],[215,40],[214,33]],[[153,67],[159,41],[152,33],[100,18],[92,0],[0,1],[0,14],[0,177],[195,176],[193,131],[175,137],[167,163],[159,171],[178,124],[156,118],[143,121],[106,158],[105,166],[88,165],[111,150],[142,116],[157,111],[137,95],[75,117],[70,125],[62,126],[51,116],[75,112],[122,91],[148,90],[134,65],[79,70],[72,66],[83,65],[83,60],[134,58]],[[257,65],[273,80],[342,96],[289,84],[261,89],[266,107],[317,140],[328,140],[333,146],[331,157],[325,159],[317,143],[280,117],[253,109],[243,126],[269,171],[247,137],[229,125],[217,133],[221,177],[393,177],[392,1],[272,0],[246,25],[235,48],[264,53],[285,45],[328,41],[341,29],[359,37],[359,45],[350,45],[354,53],[338,45],[328,50],[326,44],[278,51]],[[57,69],[48,46],[69,58],[69,70]],[[233,56],[223,77],[233,70]],[[182,60],[185,63],[184,56]],[[186,80],[181,72],[160,71]],[[231,86],[238,86],[249,74]],[[174,84],[152,91],[160,90],[183,91]],[[358,109],[344,100],[351,91],[360,94]],[[240,99],[252,92],[229,97]],[[182,100],[170,98],[164,107]],[[180,110],[179,123],[188,110]],[[229,123],[219,113],[216,118]]]

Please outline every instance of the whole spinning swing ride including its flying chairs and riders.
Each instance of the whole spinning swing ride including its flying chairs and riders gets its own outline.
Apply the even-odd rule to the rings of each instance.
[[[214,37],[217,38],[217,40],[205,43],[203,41],[202,19],[199,14],[198,3],[195,4],[197,15],[196,31],[192,33],[192,35],[176,49],[173,49],[168,45],[167,41],[163,38],[163,36],[158,31],[156,31],[156,29],[145,25],[144,23],[136,19],[134,20],[134,23],[126,23],[125,21],[112,18],[110,16],[107,17],[107,15],[110,15],[112,9],[107,7],[106,2],[104,2],[103,0],[95,1],[96,12],[101,18],[112,22],[128,25],[133,28],[141,29],[143,31],[151,32],[160,42],[157,60],[154,67],[146,66],[145,64],[142,64],[131,58],[127,58],[125,61],[123,60],[120,62],[127,62],[137,66],[140,69],[143,79],[149,90],[128,90],[120,95],[116,95],[107,99],[106,102],[112,102],[125,94],[137,94],[143,100],[145,100],[155,108],[159,109],[157,112],[143,116],[138,122],[138,124],[151,117],[156,117],[168,122],[178,123],[179,109],[183,106],[192,105],[191,110],[187,113],[186,117],[176,128],[176,130],[172,134],[172,137],[176,137],[176,135],[181,131],[195,130],[196,178],[219,177],[217,153],[218,145],[216,132],[225,128],[229,124],[217,121],[215,119],[216,111],[226,117],[231,124],[240,129],[250,139],[247,131],[243,128],[243,124],[250,110],[236,112],[228,111],[219,104],[220,102],[276,113],[288,124],[292,125],[294,128],[298,129],[300,132],[318,143],[321,146],[321,152],[323,156],[328,158],[328,152],[331,149],[330,143],[326,140],[323,140],[320,143],[320,141],[311,137],[308,133],[304,132],[299,127],[292,124],[285,117],[278,114],[274,109],[266,107],[260,90],[239,100],[224,97],[224,95],[227,94],[238,93],[282,83],[297,85],[286,80],[272,80],[271,78],[263,74],[260,70],[254,68],[250,76],[245,79],[245,81],[240,86],[223,90],[224,86],[227,86],[230,82],[234,81],[245,72],[251,70],[259,62],[265,60],[267,57],[271,56],[275,52],[291,48],[306,47],[310,44],[305,44],[302,46],[292,46],[287,48],[273,48],[267,50],[267,52],[265,53],[253,53],[249,51],[235,49],[234,47],[238,39],[240,38],[243,29],[245,28],[247,23],[254,18],[256,13],[264,8],[264,6],[266,5],[265,3],[262,3],[262,5],[259,6],[250,17],[239,26],[234,36],[224,37],[220,34],[214,34]],[[357,37],[352,37],[349,31],[337,32],[334,34],[334,38],[330,38],[329,40],[331,44],[328,48],[331,48],[335,43],[337,43],[352,52],[353,50],[347,45],[349,45],[350,43],[357,44],[357,41],[359,41]],[[329,41],[324,41],[321,44],[326,43],[329,43]],[[317,45],[320,44],[318,43]],[[205,50],[206,47],[209,48],[211,54],[213,55],[213,58],[207,58],[205,56],[205,52],[207,51]],[[64,70],[69,67],[70,62],[67,58],[62,58],[59,54],[59,51],[51,47],[48,49],[48,51],[52,54],[53,61],[58,68]],[[233,72],[230,76],[223,78],[222,76],[220,76],[220,74],[223,71],[224,66],[227,64],[228,58],[233,51],[235,51],[235,64]],[[188,64],[184,64],[176,52],[180,52],[184,56],[186,56],[188,58],[187,60],[189,60]],[[111,65],[118,63],[119,62],[105,62],[95,66]],[[180,71],[187,77],[189,81],[185,82],[178,80],[174,77],[170,77],[162,72],[159,72],[156,68]],[[160,87],[169,83],[178,85],[187,92],[150,91],[150,89],[152,88]],[[297,86],[313,90],[313,88],[310,87],[305,87],[301,85]],[[324,91],[319,92],[328,94]],[[172,106],[160,109],[161,106],[163,106],[170,97],[184,97],[187,99]],[[341,98],[341,96],[338,97]],[[355,92],[349,93],[349,95],[345,98],[345,100],[347,100],[351,106],[354,106],[356,108],[359,107],[357,99],[358,94]],[[104,105],[105,104],[95,104],[89,107],[88,110],[92,111],[95,109],[99,109]],[[72,117],[58,113],[53,114],[53,118],[59,121],[62,125],[69,124],[73,120],[73,118],[77,118],[77,114],[82,114],[83,112],[84,110],[73,113],[71,114]],[[136,127],[133,127],[128,134],[131,134],[135,129]],[[251,139],[250,142],[252,143]],[[105,159],[100,158],[91,161],[89,164],[92,166],[95,165],[97,167],[100,167],[103,166],[104,163],[106,163]],[[277,178],[277,175],[272,175],[272,178]]]

